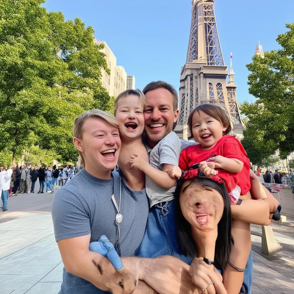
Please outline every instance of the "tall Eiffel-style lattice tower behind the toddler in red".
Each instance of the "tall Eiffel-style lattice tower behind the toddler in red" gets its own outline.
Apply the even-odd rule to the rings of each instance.
[[[233,133],[242,137],[240,116],[234,84],[235,73],[228,73],[220,47],[215,0],[193,0],[191,31],[186,64],[181,69],[180,113],[175,132],[185,138],[189,113],[199,104],[214,103],[224,108],[231,119]],[[232,56],[231,56],[232,58]],[[228,83],[226,82],[229,76]]]

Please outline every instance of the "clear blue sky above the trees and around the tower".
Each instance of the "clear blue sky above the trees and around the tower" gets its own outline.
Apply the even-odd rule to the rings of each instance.
[[[191,25],[191,0],[47,0],[48,11],[76,17],[106,41],[117,65],[134,75],[136,87],[163,80],[178,89],[185,64]],[[281,5],[279,5],[281,4]],[[255,98],[248,93],[245,67],[260,40],[264,51],[278,48],[278,34],[294,22],[293,0],[216,0],[215,13],[225,64],[233,68],[239,102]]]

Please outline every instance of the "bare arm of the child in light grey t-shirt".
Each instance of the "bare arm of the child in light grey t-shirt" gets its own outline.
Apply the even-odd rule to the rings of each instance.
[[[167,173],[168,168],[173,166],[172,164],[164,164],[163,171],[161,171],[151,166],[147,161],[138,156],[138,154],[131,156],[130,164],[131,168],[143,171],[153,182],[163,188],[170,189],[176,185],[177,178],[171,178]]]

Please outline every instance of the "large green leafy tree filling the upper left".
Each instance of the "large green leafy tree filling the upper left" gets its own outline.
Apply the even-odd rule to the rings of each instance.
[[[0,150],[15,158],[39,146],[74,161],[74,118],[113,111],[101,84],[101,70],[110,71],[93,28],[48,13],[44,2],[0,1]]]

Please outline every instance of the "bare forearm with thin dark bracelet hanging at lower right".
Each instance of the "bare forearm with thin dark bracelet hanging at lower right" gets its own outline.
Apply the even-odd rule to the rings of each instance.
[[[250,224],[233,220],[231,232],[234,238],[234,247],[230,255],[230,263],[237,268],[243,269],[246,266],[251,250]],[[239,293],[243,278],[244,272],[240,272],[227,264],[223,272],[223,285],[228,294]]]

